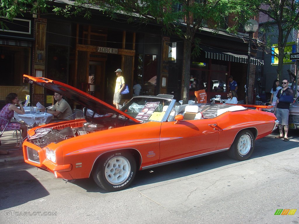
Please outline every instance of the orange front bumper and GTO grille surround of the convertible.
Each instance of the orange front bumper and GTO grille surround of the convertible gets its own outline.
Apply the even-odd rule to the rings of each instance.
[[[72,164],[58,165],[53,163],[52,161],[46,159],[45,152],[42,148],[30,142],[24,141],[23,154],[26,163],[49,171],[55,174],[57,178],[73,179],[69,174],[69,171],[72,170]]]

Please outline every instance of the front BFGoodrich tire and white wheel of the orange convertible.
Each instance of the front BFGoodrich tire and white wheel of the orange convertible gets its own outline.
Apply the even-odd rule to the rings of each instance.
[[[136,162],[128,152],[113,152],[106,154],[92,176],[97,185],[106,191],[120,191],[127,188],[136,173]]]

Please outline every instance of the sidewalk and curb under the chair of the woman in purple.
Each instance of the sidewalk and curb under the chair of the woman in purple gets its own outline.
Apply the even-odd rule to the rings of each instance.
[[[16,133],[14,131],[6,131],[1,136],[0,146],[0,168],[10,167],[13,165],[25,164],[23,151],[20,149],[20,143],[16,145]],[[20,134],[18,132],[18,142],[20,142]]]

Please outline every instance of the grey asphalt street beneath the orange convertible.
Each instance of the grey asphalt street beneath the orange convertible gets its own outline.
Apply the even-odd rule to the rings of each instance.
[[[299,223],[299,131],[289,142],[275,135],[246,161],[223,152],[139,171],[112,193],[30,165],[1,168],[0,223]]]

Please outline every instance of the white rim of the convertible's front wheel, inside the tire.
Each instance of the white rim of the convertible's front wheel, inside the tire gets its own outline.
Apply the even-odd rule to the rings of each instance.
[[[123,183],[129,177],[130,172],[130,162],[122,156],[110,159],[105,166],[106,180],[113,185]]]

